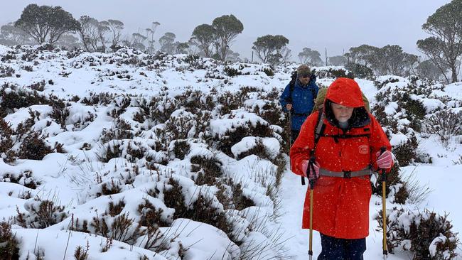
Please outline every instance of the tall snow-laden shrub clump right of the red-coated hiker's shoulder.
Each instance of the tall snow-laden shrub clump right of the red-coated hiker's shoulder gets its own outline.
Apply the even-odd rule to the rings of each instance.
[[[375,85],[380,89],[375,95],[377,104],[372,107],[387,136],[391,139],[393,153],[399,166],[413,162],[428,162],[431,158],[417,149],[417,134],[427,112],[444,106],[439,99],[429,99],[439,85],[427,85],[424,80],[406,80],[402,77],[377,77]]]

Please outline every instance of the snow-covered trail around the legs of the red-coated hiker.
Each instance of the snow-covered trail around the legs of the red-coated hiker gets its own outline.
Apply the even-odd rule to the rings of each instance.
[[[306,185],[301,185],[299,175],[286,171],[281,183],[281,227],[287,239],[286,247],[290,248],[289,254],[294,260],[308,259],[308,229],[301,229],[301,215],[303,212],[303,201],[305,200]],[[376,202],[378,205],[375,205]],[[364,259],[382,259],[382,233],[375,231],[377,222],[372,215],[378,212],[382,205],[381,199],[372,196],[370,200],[370,234],[366,239],[367,250]],[[317,259],[321,253],[321,239],[318,232],[313,232],[313,258]],[[409,252],[389,254],[388,260],[412,259]]]

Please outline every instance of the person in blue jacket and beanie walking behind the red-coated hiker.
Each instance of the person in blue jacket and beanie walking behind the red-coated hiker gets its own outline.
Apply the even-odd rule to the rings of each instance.
[[[289,82],[279,98],[284,112],[291,113],[291,145],[299,136],[301,125],[306,117],[313,110],[318,90],[316,76],[311,75],[310,67],[300,65],[296,71],[296,78]]]

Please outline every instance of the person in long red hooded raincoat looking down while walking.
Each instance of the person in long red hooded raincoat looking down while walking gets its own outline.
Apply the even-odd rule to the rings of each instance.
[[[363,259],[365,237],[369,234],[370,174],[377,169],[390,171],[390,142],[377,119],[366,111],[354,80],[335,80],[328,88],[323,114],[319,113],[311,114],[301,126],[299,138],[290,150],[291,170],[317,178],[313,188],[313,229],[321,234],[318,259]],[[323,122],[322,128],[318,128],[318,120]],[[315,132],[321,134],[317,142]],[[387,151],[381,153],[382,147]],[[304,229],[309,228],[309,203],[307,192]]]

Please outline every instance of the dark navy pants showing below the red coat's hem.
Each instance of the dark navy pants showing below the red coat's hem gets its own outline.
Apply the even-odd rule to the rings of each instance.
[[[362,260],[366,239],[337,239],[321,234],[321,247],[318,260]]]

